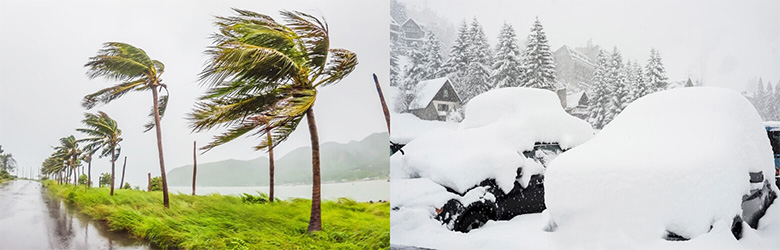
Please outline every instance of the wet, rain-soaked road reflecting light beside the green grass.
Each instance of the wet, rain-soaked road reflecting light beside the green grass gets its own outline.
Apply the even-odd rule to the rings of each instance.
[[[52,198],[35,181],[0,184],[0,249],[154,249],[110,232],[72,205]]]

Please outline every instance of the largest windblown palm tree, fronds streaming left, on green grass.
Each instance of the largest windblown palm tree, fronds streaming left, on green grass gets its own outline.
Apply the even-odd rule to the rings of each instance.
[[[234,9],[218,17],[219,32],[201,72],[209,91],[190,119],[193,130],[225,127],[204,146],[208,150],[257,130],[270,149],[286,140],[306,116],[312,149],[312,208],[308,231],[322,230],[320,156],[314,101],[317,88],[336,83],[357,65],[357,56],[331,49],[328,25],[314,16],[282,11],[285,25],[267,15]],[[270,138],[269,138],[270,134]]]

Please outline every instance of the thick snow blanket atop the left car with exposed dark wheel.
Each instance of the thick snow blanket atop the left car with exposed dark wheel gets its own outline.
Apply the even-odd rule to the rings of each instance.
[[[495,179],[509,192],[517,169],[529,176],[544,168],[522,152],[536,142],[556,142],[568,149],[593,136],[590,124],[567,114],[552,91],[501,88],[471,99],[458,129],[433,129],[409,142],[405,154],[391,157],[393,178],[425,177],[465,192]]]

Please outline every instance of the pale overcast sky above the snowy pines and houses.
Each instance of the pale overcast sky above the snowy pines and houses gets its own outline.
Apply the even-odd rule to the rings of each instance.
[[[550,46],[588,39],[623,58],[646,63],[656,48],[672,80],[702,77],[705,85],[745,90],[751,79],[780,81],[780,1],[452,1],[400,0],[429,8],[459,27],[476,17],[495,45],[504,21],[525,40],[538,16]],[[449,48],[446,48],[449,50]],[[752,90],[752,89],[750,89]]]

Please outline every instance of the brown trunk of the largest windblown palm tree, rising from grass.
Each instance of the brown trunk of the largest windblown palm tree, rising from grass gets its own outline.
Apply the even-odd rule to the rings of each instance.
[[[322,231],[321,190],[320,190],[320,138],[317,135],[317,123],[314,121],[314,106],[306,110],[311,137],[311,216],[307,232]]]

